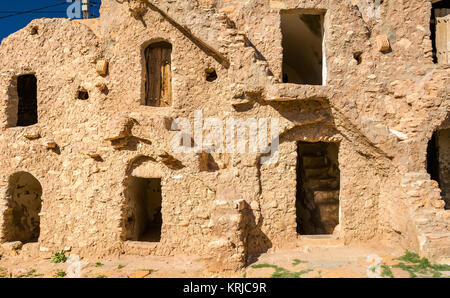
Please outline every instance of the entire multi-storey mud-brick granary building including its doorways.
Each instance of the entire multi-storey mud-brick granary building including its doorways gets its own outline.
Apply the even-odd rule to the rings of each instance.
[[[448,3],[103,0],[32,21],[0,46],[0,242],[212,271],[302,239],[449,257]],[[278,119],[276,161],[174,152],[199,111]]]

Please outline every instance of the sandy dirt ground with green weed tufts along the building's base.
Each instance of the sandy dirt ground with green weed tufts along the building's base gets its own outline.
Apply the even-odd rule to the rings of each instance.
[[[214,274],[206,270],[200,257],[140,257],[121,256],[117,259],[78,260],[70,256],[64,263],[52,263],[52,258],[3,256],[0,277],[3,278],[173,278],[173,277],[299,277],[299,278],[366,278],[366,277],[450,277],[450,260],[442,266],[398,260],[404,251],[370,246],[305,245],[289,250],[272,250],[262,254],[241,272]],[[399,265],[400,264],[400,265]],[[402,265],[403,264],[403,265]],[[427,263],[428,264],[428,263]],[[417,267],[408,267],[415,266]],[[412,268],[412,269],[411,269]],[[431,269],[430,269],[431,268]],[[78,272],[76,271],[77,269]],[[412,274],[411,274],[412,272]],[[439,272],[439,273],[436,273]]]

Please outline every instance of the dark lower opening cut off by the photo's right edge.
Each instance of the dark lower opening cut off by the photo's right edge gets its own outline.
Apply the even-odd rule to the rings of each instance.
[[[427,147],[427,172],[439,184],[445,209],[450,209],[450,129],[433,133]]]

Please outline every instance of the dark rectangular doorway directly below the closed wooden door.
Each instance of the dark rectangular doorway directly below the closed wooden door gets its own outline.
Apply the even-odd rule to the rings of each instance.
[[[161,179],[132,176],[128,196],[127,240],[159,242],[162,228]]]

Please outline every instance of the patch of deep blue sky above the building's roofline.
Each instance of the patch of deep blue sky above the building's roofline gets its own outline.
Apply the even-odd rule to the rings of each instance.
[[[101,0],[91,0],[91,13],[98,16]],[[18,12],[34,10],[45,6],[56,5],[40,10],[40,12],[24,13],[16,16]],[[67,18],[66,10],[71,5],[67,0],[0,0],[0,40],[25,27],[33,19],[39,18]]]

